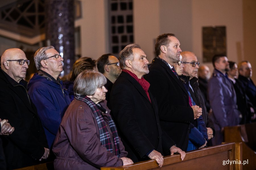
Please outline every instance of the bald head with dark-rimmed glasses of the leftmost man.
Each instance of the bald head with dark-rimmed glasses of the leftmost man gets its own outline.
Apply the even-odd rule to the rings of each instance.
[[[7,49],[1,56],[1,69],[17,82],[26,77],[28,64],[24,62],[23,65],[20,65],[19,61],[8,60],[19,59],[27,60],[25,53],[19,48]]]

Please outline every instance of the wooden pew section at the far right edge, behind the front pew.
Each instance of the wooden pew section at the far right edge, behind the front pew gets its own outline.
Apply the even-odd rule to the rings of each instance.
[[[224,128],[225,142],[241,142],[243,160],[248,159],[248,164],[243,169],[256,169],[256,123],[238,125]]]

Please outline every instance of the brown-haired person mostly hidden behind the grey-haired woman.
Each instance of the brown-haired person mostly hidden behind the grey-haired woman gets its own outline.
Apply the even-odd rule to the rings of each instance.
[[[95,67],[96,60],[89,57],[81,57],[75,61],[69,81],[63,82],[63,88],[67,89],[70,101],[74,100],[74,81],[77,76],[84,70],[94,71]]]

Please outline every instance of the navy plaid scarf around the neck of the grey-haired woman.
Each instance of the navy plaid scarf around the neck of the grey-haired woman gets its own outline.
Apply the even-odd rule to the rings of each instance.
[[[96,105],[91,99],[89,99],[87,96],[84,95],[76,95],[75,98],[77,100],[83,101],[85,102],[90,109],[92,110],[92,112],[94,113],[94,116],[97,120],[98,123],[98,127],[100,129],[100,142],[101,144],[107,148],[107,151],[112,152],[113,153],[113,148],[112,148],[112,142],[110,139],[110,133],[107,129],[107,125],[104,121],[103,115],[102,115],[102,111],[107,113],[106,109],[104,109],[102,107],[102,105],[100,105],[99,103]],[[113,142],[114,142],[114,146],[115,146],[115,155],[119,158],[120,156],[120,146],[119,146],[119,139],[118,139],[118,134],[117,134],[117,129],[115,127],[115,123],[112,120],[112,118],[110,116],[108,116],[108,126],[110,127],[110,130],[112,132],[112,136],[113,136]]]

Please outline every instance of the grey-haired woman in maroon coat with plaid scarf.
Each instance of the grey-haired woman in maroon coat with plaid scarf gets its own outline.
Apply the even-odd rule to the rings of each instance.
[[[54,168],[100,169],[133,163],[106,107],[106,78],[91,71],[77,76],[69,105],[53,144]]]

